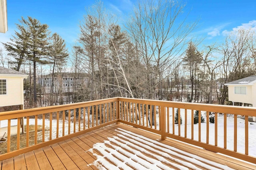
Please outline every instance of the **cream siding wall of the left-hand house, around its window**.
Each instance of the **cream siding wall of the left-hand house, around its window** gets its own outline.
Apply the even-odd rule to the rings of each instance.
[[[24,105],[23,78],[1,76],[7,81],[7,94],[0,95],[0,107]]]

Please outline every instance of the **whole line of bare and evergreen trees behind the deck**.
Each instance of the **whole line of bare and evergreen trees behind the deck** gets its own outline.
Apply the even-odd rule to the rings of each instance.
[[[116,96],[226,104],[224,83],[255,74],[255,32],[239,29],[222,44],[198,49],[200,44],[189,38],[198,21],[188,23],[184,7],[176,1],[139,1],[120,25],[98,1],[86,9],[70,51],[47,24],[22,17],[3,43],[9,61],[0,50],[0,64],[29,74],[24,87],[30,106]],[[54,80],[62,80],[64,72],[86,81],[73,83],[72,92],[54,91]],[[50,93],[38,81],[46,73],[52,78]]]

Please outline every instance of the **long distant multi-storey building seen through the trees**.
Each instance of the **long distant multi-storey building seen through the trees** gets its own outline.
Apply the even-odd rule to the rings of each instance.
[[[58,92],[73,92],[74,88],[86,85],[88,83],[88,74],[63,72],[43,75],[39,78],[39,84],[42,86],[44,93],[52,93],[51,86],[53,85],[53,93]]]

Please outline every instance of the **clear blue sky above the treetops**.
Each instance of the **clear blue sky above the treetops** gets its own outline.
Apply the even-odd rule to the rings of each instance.
[[[102,0],[106,9],[124,22],[136,0]],[[203,44],[221,43],[225,35],[239,27],[256,29],[255,0],[187,0],[188,21],[199,19],[193,37],[204,38]],[[95,0],[7,0],[8,31],[0,33],[0,42],[9,41],[21,16],[31,16],[49,25],[65,39],[71,50],[79,34],[79,23],[86,15],[85,7]],[[1,47],[2,45],[0,45]]]

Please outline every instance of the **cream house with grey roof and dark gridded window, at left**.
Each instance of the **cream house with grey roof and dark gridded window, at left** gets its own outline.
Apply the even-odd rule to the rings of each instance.
[[[28,75],[0,66],[0,107],[24,108],[23,79]]]

